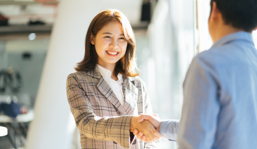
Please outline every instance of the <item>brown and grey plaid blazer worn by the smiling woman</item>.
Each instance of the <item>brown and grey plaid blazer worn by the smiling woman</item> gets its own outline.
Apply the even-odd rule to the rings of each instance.
[[[123,107],[98,67],[70,74],[66,89],[82,149],[159,149],[159,142],[140,142],[129,132],[132,115],[152,113],[145,83],[139,77],[124,77]]]

